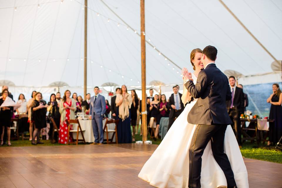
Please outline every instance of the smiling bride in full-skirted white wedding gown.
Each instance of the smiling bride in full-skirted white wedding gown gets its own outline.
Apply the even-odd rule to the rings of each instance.
[[[194,69],[192,78],[194,84],[202,68],[202,50],[192,50],[190,59]],[[189,92],[185,87],[182,102],[189,100]],[[189,147],[196,125],[187,122],[187,116],[197,99],[187,104],[183,112],[175,120],[166,136],[144,164],[138,177],[149,182],[154,187],[187,188],[189,179]],[[248,188],[248,173],[243,161],[236,137],[231,126],[227,126],[224,137],[224,152],[228,156],[234,173],[236,185],[239,188]],[[202,188],[227,187],[226,178],[212,155],[211,141],[209,141],[202,155],[201,171]]]

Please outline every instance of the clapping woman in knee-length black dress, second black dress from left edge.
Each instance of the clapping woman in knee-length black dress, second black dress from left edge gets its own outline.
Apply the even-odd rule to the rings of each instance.
[[[42,94],[40,92],[35,93],[35,100],[33,101],[31,110],[32,110],[32,119],[35,123],[35,130],[32,135],[32,145],[44,144],[40,142],[39,136],[42,128],[46,127],[46,112],[48,105],[45,100],[42,99]],[[35,143],[35,137],[37,137],[37,142]]]

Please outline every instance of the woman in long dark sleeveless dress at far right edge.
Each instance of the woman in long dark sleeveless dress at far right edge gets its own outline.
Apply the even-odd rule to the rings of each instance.
[[[269,123],[269,139],[267,145],[276,144],[282,135],[282,93],[277,83],[272,85],[273,93],[267,99],[271,103],[269,119],[274,122]]]

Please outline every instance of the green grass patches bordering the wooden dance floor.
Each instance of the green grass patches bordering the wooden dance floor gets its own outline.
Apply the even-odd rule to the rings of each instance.
[[[147,138],[148,140],[152,140],[153,144],[159,145],[161,143],[161,139],[157,139],[157,141],[154,141],[153,139],[150,139],[150,137]],[[140,136],[140,126],[138,134],[135,135],[135,141],[142,140],[142,136]],[[41,140],[44,142],[44,144],[41,144],[41,146],[58,146],[58,145],[64,145],[64,144],[52,144],[50,140]],[[21,147],[21,146],[35,146],[31,145],[31,141],[24,140],[12,140],[11,141],[12,147]],[[82,144],[82,143],[79,143]],[[257,160],[263,160],[263,161],[269,161],[269,162],[276,162],[276,163],[282,163],[282,152],[280,150],[274,150],[271,148],[254,148],[256,146],[256,143],[251,142],[244,142],[243,147],[241,148],[241,153],[243,157],[250,158],[250,159],[257,159]],[[262,145],[261,146],[265,146]],[[7,145],[3,145],[2,147],[7,147]]]

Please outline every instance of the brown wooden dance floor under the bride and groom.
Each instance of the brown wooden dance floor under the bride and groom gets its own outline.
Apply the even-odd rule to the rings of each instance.
[[[0,187],[152,187],[137,177],[157,145],[0,147]],[[245,159],[251,188],[282,187],[282,164]]]

